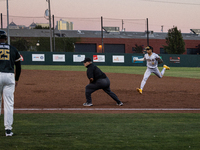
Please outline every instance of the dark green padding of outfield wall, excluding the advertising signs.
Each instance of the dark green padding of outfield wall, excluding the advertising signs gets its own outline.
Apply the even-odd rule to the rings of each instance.
[[[115,54],[115,53],[74,53],[74,52],[25,52],[21,51],[24,61],[22,65],[82,65],[81,62],[73,62],[73,55],[85,55],[85,57],[93,58],[93,55],[105,55],[105,62],[95,62],[96,65],[104,66],[146,66],[146,62],[133,63],[132,58],[137,56],[143,56],[143,54]],[[32,61],[32,54],[44,54],[45,61]],[[65,55],[65,62],[53,62],[53,54]],[[113,63],[112,56],[119,55],[124,56],[124,63]],[[174,55],[174,54],[159,54],[162,57],[164,63],[170,67],[200,67],[200,55]],[[180,58],[179,63],[170,61],[171,59]],[[176,61],[175,61],[176,62]],[[159,66],[162,66],[160,64]]]

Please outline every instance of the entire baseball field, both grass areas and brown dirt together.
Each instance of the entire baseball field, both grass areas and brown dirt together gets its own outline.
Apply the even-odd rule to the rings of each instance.
[[[142,95],[136,88],[146,67],[99,68],[124,106],[99,90],[92,94],[94,106],[83,107],[84,66],[22,66],[14,136],[5,137],[2,114],[0,149],[200,149],[200,68],[171,67],[162,79],[152,75]]]

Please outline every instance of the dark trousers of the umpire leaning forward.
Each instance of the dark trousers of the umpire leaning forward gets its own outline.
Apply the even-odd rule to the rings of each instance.
[[[98,79],[95,83],[90,83],[85,87],[85,96],[88,103],[92,103],[91,94],[99,89],[103,89],[118,104],[121,102],[117,95],[110,90],[110,80],[106,77],[104,79]]]

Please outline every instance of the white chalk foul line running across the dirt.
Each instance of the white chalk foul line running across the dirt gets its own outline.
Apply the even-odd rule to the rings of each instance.
[[[200,108],[15,108],[16,111],[41,111],[41,110],[123,110],[123,111],[200,111]]]

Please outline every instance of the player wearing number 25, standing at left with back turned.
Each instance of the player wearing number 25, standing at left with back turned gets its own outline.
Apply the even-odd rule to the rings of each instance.
[[[12,136],[14,91],[21,73],[21,56],[16,48],[5,43],[6,40],[6,32],[0,30],[0,114],[3,97],[5,134]]]

